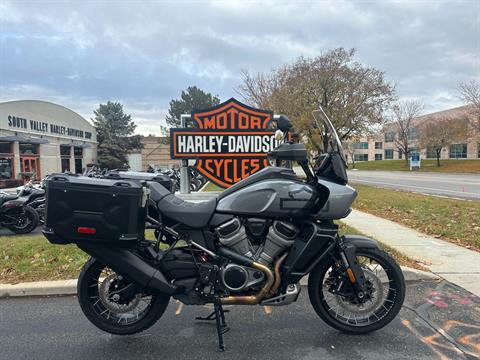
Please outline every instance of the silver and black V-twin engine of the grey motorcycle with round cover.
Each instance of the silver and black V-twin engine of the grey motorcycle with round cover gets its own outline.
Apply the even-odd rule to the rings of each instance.
[[[270,223],[264,219],[247,219],[246,229],[239,218],[234,218],[217,227],[216,232],[222,245],[272,267],[275,258],[292,246],[298,229],[288,221],[275,220]],[[229,263],[221,269],[221,281],[230,291],[255,287],[264,279],[261,271],[247,266]]]

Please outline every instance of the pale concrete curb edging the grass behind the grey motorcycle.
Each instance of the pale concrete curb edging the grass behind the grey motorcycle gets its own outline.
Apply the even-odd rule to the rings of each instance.
[[[408,267],[402,267],[405,281],[437,280],[439,276]],[[308,276],[300,281],[300,285],[305,286],[308,282]],[[37,281],[28,283],[19,283],[15,285],[0,284],[0,299],[27,296],[61,296],[76,295],[77,280],[57,280],[57,281]]]

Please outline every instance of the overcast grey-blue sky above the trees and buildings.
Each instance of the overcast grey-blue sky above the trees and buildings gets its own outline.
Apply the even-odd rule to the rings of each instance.
[[[480,79],[480,1],[0,0],[0,101],[40,99],[86,118],[121,101],[143,134],[197,85],[226,100],[239,73],[354,47],[426,111]]]

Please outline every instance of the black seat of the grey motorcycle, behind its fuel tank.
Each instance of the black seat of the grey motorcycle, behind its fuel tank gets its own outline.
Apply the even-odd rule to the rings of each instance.
[[[148,187],[150,198],[163,216],[191,228],[206,226],[217,206],[217,199],[193,203],[175,196],[158,183],[148,183]]]

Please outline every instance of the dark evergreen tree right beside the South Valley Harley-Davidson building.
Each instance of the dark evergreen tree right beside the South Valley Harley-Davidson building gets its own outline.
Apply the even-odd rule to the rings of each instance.
[[[97,129],[98,164],[108,169],[128,164],[129,151],[143,147],[141,135],[134,135],[137,125],[123,112],[119,102],[108,101],[94,111],[93,125]]]

